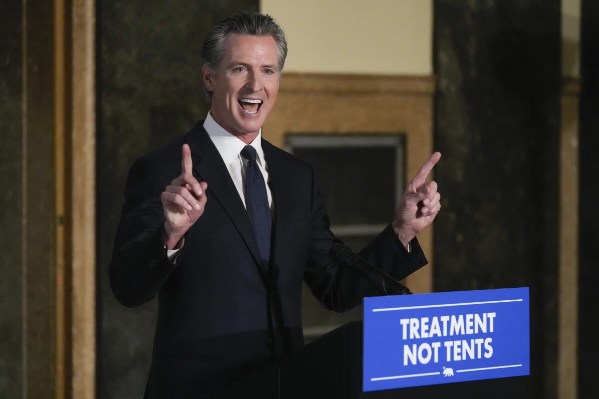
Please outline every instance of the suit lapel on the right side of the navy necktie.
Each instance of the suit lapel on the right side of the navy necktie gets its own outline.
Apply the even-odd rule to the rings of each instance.
[[[287,185],[291,184],[291,179],[285,172],[286,168],[282,160],[277,156],[276,148],[262,138],[262,150],[268,165],[268,176],[270,176],[270,189],[273,194],[274,202],[274,229],[271,246],[271,265],[282,266],[285,263],[285,243],[288,236],[289,211],[291,202]]]

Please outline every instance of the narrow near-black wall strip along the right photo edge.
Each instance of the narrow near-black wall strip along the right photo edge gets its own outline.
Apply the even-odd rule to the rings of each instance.
[[[597,395],[599,374],[599,2],[582,1],[580,97],[579,398]]]

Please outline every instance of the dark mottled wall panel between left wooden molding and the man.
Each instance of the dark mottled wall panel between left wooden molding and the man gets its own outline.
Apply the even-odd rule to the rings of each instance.
[[[199,48],[208,28],[258,0],[98,2],[98,397],[141,397],[156,303],[126,309],[108,286],[131,163],[208,111]]]

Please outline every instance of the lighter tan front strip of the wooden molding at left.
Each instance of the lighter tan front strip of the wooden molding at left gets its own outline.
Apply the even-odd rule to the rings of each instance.
[[[72,0],[72,397],[96,386],[95,1]]]

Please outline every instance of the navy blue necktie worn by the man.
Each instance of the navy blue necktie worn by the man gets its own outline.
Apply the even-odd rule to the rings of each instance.
[[[251,145],[241,150],[241,155],[247,159],[246,167],[246,208],[247,215],[252,223],[258,250],[265,265],[270,260],[270,234],[272,229],[272,218],[264,176],[256,163],[256,150]]]

